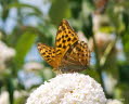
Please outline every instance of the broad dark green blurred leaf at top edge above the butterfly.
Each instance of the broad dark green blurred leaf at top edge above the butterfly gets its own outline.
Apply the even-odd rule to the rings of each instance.
[[[54,0],[50,9],[50,17],[59,24],[63,18],[70,17],[70,9],[67,0]]]

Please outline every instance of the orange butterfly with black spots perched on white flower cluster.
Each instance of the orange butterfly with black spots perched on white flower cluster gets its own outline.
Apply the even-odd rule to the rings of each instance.
[[[63,20],[59,26],[54,48],[44,43],[38,43],[37,48],[55,73],[81,72],[90,62],[88,44],[79,41],[77,34],[66,20]]]

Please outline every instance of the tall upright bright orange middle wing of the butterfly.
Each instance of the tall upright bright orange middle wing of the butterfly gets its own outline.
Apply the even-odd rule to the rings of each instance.
[[[63,20],[56,32],[55,39],[56,61],[61,64],[66,51],[78,41],[78,36],[74,29],[69,26],[68,22]]]

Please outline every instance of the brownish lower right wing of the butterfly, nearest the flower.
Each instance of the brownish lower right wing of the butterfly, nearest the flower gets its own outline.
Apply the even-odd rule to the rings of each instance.
[[[62,67],[60,67],[63,73],[86,69],[90,62],[88,44],[83,41],[78,41],[74,47],[68,49],[64,57],[62,60]]]

